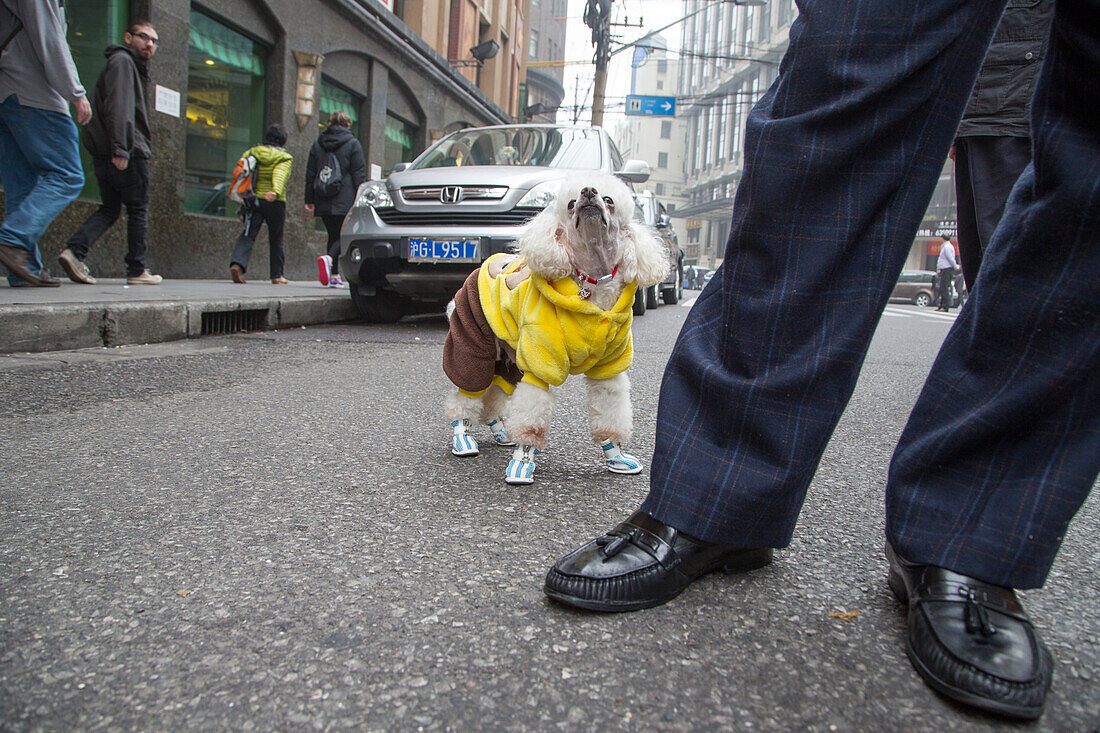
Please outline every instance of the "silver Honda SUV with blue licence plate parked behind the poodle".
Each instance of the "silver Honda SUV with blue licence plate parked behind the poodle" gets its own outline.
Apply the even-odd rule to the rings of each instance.
[[[340,274],[355,307],[377,322],[442,309],[578,171],[649,178],[649,164],[624,162],[601,128],[513,124],[459,130],[363,184],[340,233]]]

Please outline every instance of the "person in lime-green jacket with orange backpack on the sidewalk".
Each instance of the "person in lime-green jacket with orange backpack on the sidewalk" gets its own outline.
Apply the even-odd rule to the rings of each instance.
[[[283,229],[286,226],[286,182],[290,177],[294,157],[286,151],[286,128],[273,124],[264,133],[263,144],[245,151],[254,155],[256,167],[256,203],[253,207],[242,207],[244,231],[237,238],[237,247],[230,260],[229,273],[234,283],[243,284],[249,271],[252,245],[260,234],[260,226],[267,222],[267,244],[271,248],[271,276],[275,285],[286,285],[283,276],[286,254],[283,250]]]

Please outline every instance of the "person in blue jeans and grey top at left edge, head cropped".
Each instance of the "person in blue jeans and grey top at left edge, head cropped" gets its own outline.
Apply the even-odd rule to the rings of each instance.
[[[91,119],[65,34],[62,0],[4,0],[0,29],[0,178],[4,219],[0,263],[12,287],[57,287],[42,266],[38,238],[84,187],[77,130]],[[14,33],[14,35],[12,35]]]

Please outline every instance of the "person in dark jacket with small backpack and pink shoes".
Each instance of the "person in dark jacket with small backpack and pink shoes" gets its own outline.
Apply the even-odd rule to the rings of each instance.
[[[306,210],[320,217],[328,231],[326,254],[317,258],[317,278],[321,285],[339,287],[337,258],[340,255],[340,228],[355,203],[355,192],[366,182],[363,146],[351,132],[351,117],[336,111],[329,127],[309,150],[306,163]]]

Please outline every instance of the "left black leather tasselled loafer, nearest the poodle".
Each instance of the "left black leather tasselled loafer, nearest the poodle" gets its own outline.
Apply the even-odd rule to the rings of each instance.
[[[587,611],[637,611],[671,601],[713,570],[752,570],[771,562],[771,556],[770,547],[735,549],[693,539],[638,511],[559,560],[543,590]]]

